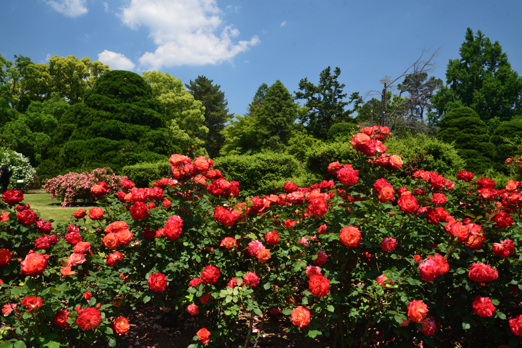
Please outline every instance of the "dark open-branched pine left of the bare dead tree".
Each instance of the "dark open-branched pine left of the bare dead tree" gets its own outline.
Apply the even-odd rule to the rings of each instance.
[[[337,122],[347,122],[347,118],[353,111],[345,111],[345,106],[354,100],[359,100],[359,93],[352,93],[348,102],[342,101],[347,97],[342,92],[345,84],[340,84],[337,78],[341,74],[341,69],[336,67],[334,73],[327,67],[319,74],[319,83],[315,86],[307,78],[299,82],[299,92],[295,93],[295,99],[306,99],[305,106],[310,109],[304,119],[306,129],[316,138],[326,139],[328,130]]]

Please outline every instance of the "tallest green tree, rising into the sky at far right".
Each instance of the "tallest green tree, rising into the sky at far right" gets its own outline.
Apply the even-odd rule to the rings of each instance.
[[[511,68],[507,54],[478,30],[468,28],[460,59],[449,59],[446,82],[433,97],[440,118],[458,106],[475,110],[482,121],[499,117],[509,121],[522,113],[522,78]]]

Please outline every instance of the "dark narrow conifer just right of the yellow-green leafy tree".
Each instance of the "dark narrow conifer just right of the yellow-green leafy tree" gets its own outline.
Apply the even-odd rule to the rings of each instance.
[[[223,146],[224,136],[222,130],[229,119],[234,117],[229,114],[228,102],[225,93],[220,91],[220,85],[212,85],[213,80],[205,76],[198,76],[194,81],[185,84],[187,90],[195,100],[199,100],[205,106],[205,126],[208,134],[203,136],[205,148],[210,157],[217,157]]]

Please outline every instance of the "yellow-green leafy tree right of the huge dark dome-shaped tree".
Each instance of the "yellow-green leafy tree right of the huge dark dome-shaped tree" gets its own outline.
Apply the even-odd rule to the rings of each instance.
[[[161,103],[162,115],[169,125],[174,146],[183,153],[206,154],[205,107],[185,90],[181,79],[161,71],[145,71],[144,80],[152,96]]]

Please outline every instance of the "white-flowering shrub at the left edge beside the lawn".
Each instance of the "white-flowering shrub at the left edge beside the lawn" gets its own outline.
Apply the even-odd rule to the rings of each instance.
[[[36,173],[27,157],[6,148],[0,148],[0,166],[6,166],[11,172],[8,189],[27,190]],[[23,180],[23,182],[17,183],[19,180]]]

